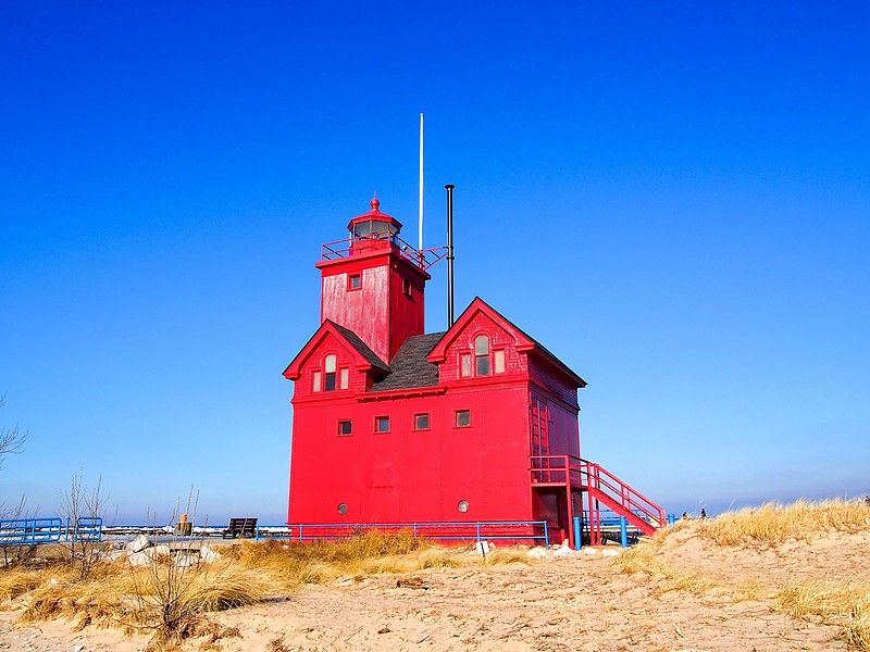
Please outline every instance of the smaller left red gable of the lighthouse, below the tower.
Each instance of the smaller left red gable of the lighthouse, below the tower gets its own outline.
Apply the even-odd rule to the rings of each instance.
[[[366,391],[389,366],[352,330],[326,321],[284,371],[294,402],[347,398]]]

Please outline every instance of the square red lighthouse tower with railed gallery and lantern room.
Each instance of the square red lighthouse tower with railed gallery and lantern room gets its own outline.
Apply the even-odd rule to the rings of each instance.
[[[370,205],[347,225],[346,248],[324,246],[324,260],[316,263],[320,316],[321,323],[330,319],[353,331],[389,364],[405,340],[423,334],[423,293],[431,277],[422,254],[399,239],[399,221],[381,212],[377,198]]]

